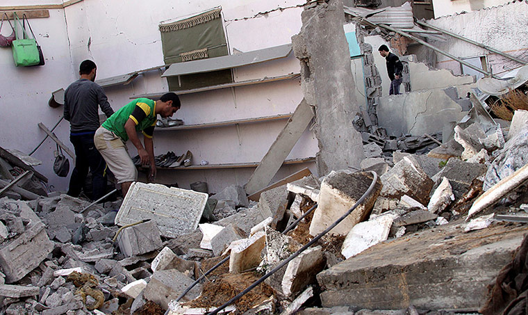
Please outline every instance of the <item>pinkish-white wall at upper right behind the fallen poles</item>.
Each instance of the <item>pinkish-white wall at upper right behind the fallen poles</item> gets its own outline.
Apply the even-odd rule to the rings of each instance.
[[[451,2],[459,3],[459,1]],[[468,3],[468,1],[463,0],[462,3]],[[528,2],[513,1],[503,6],[427,20],[427,23],[528,61],[527,21]],[[470,45],[468,42],[450,36],[446,36],[446,38],[446,42],[432,41],[431,45],[460,58],[486,56],[488,64],[495,74],[520,66],[513,60]],[[459,63],[438,53],[436,56],[437,68],[451,69],[454,74],[461,73]]]

